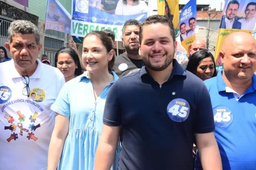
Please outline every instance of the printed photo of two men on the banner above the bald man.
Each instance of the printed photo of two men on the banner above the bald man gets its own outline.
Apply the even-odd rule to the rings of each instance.
[[[220,28],[247,29],[255,27],[256,1],[232,0],[224,6]]]

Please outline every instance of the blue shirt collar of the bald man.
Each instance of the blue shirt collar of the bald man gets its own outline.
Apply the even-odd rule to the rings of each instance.
[[[218,92],[226,91],[226,87],[227,87],[226,83],[224,82],[224,79],[222,78],[222,72],[223,72],[223,70],[219,71],[218,74],[217,74]],[[253,83],[251,83],[251,86],[245,91],[245,94],[248,93],[248,92],[254,92],[256,90],[256,75],[253,74],[251,79],[253,80]]]

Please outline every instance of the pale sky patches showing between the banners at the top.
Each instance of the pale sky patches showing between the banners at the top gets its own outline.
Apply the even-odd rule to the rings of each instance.
[[[180,0],[179,4],[187,4],[189,0]],[[222,2],[222,7],[221,7]],[[153,10],[157,10],[157,1],[156,0],[150,0],[150,13],[152,15],[157,14],[157,12],[152,12]],[[220,11],[221,8],[223,10],[225,1],[224,0],[197,0],[196,4],[199,5],[210,5],[212,10],[216,8],[217,11]]]

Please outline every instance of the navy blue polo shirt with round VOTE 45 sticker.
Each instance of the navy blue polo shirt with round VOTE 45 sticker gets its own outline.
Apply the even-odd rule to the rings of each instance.
[[[103,120],[123,129],[119,169],[192,169],[193,134],[214,131],[204,82],[172,63],[162,86],[143,66],[110,88]]]

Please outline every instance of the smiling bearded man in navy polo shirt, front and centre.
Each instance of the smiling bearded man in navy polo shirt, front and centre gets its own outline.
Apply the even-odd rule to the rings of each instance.
[[[209,93],[174,59],[174,26],[166,16],[149,16],[139,37],[146,67],[110,88],[94,169],[110,169],[121,126],[119,169],[192,169],[194,134],[204,169],[221,169]]]

